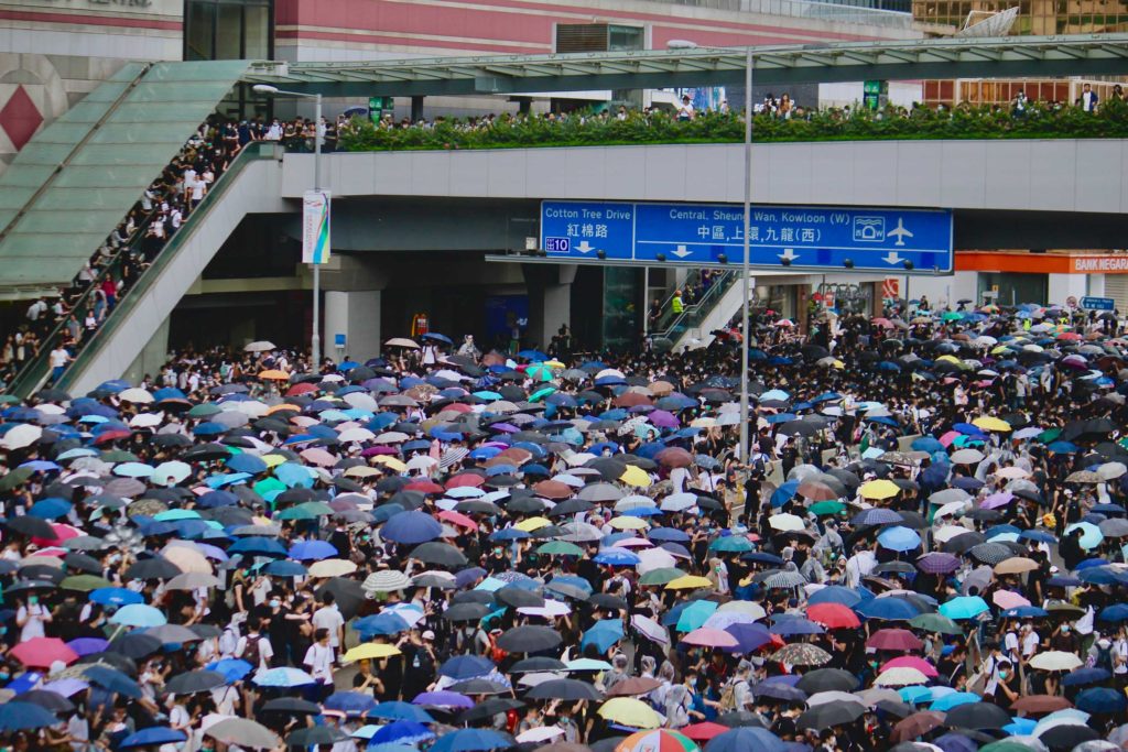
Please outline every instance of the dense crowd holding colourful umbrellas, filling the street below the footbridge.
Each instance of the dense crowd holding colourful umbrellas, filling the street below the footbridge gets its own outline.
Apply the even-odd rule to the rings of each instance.
[[[0,744],[1125,749],[1120,321],[897,313],[5,397]]]

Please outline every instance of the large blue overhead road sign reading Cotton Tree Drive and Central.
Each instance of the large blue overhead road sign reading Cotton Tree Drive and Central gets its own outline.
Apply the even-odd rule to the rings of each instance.
[[[545,201],[540,247],[549,256],[730,264],[742,260],[738,204]],[[752,206],[749,263],[866,272],[953,271],[952,213],[898,209]]]

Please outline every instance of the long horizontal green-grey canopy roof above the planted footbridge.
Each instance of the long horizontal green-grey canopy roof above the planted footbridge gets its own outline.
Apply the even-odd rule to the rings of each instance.
[[[488,95],[740,85],[744,47],[368,63],[256,62],[243,81],[325,96]],[[1128,34],[752,47],[757,85],[1128,73]]]

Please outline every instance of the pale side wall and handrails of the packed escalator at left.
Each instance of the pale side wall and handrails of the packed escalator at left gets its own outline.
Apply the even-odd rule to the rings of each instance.
[[[118,378],[243,218],[285,209],[275,183],[281,174],[280,149],[273,143],[256,142],[239,153],[151,265],[124,291],[102,325],[82,337],[55,387],[82,393]],[[138,232],[134,238],[142,235]],[[132,245],[118,249],[76,301],[73,310],[86,310],[95,289],[107,278],[120,278],[130,254],[136,251]],[[27,397],[42,389],[51,377],[50,353],[65,340],[65,335],[63,321],[44,337],[37,355],[24,364],[6,391]]]

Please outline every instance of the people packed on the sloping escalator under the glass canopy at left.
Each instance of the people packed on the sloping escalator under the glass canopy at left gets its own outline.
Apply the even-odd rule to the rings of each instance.
[[[219,117],[197,129],[71,285],[56,297],[32,301],[24,319],[3,335],[0,383],[10,381],[44,347],[50,348],[56,375],[61,372],[250,140],[249,134],[247,140],[243,135],[233,123]]]

